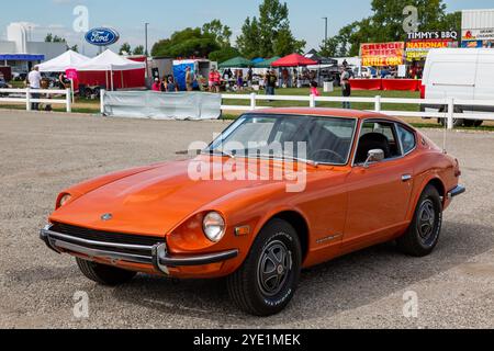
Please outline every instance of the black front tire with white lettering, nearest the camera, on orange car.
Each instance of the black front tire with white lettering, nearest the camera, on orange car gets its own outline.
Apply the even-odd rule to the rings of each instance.
[[[240,269],[228,276],[228,294],[245,313],[276,315],[293,298],[301,267],[302,249],[295,229],[284,220],[273,219],[259,233]]]

